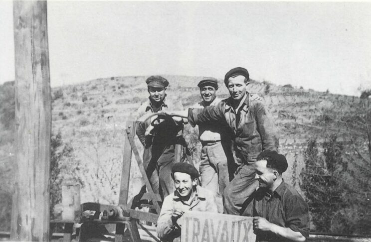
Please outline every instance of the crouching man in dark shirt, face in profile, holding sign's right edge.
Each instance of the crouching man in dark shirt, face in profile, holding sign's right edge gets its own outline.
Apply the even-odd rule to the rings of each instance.
[[[309,237],[308,204],[292,186],[282,179],[287,169],[285,156],[264,150],[255,163],[259,188],[252,194],[241,215],[254,217],[257,242],[305,241]]]

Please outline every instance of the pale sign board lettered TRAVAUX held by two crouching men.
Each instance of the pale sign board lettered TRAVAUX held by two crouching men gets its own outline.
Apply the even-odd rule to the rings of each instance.
[[[252,217],[186,212],[182,242],[255,242]]]

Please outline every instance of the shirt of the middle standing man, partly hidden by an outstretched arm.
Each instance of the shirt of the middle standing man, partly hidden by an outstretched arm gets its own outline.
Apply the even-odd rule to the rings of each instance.
[[[205,107],[215,106],[220,102],[220,98],[215,98],[214,101],[207,105],[206,102],[202,100],[201,102],[193,105],[191,108],[203,109]],[[228,125],[226,122],[200,123],[198,125],[198,139],[201,141],[201,143],[220,141],[222,138],[225,138],[226,132],[229,131],[229,129],[226,129],[227,127]]]

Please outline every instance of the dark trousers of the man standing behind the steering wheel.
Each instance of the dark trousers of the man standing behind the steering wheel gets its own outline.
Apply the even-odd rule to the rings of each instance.
[[[175,161],[175,144],[151,145],[143,153],[143,165],[150,180],[154,193],[159,193],[164,199],[175,191],[171,177]]]

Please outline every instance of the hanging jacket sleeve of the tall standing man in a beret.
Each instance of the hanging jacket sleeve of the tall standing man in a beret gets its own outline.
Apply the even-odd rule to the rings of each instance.
[[[277,129],[276,125],[274,124],[272,115],[268,112],[268,110],[261,102],[257,102],[255,104],[255,109],[257,127],[261,137],[263,150],[277,150]]]

